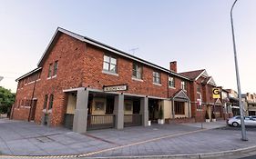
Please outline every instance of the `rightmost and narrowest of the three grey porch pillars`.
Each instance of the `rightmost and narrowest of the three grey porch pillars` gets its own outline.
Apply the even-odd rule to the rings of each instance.
[[[140,98],[139,114],[142,114],[142,125],[148,126],[148,97]]]

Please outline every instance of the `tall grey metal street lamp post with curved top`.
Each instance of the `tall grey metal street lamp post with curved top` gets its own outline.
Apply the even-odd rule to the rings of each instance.
[[[243,105],[241,104],[241,84],[240,84],[240,75],[239,75],[239,68],[238,68],[235,34],[234,34],[234,26],[233,26],[233,16],[232,16],[233,7],[236,3],[237,3],[237,0],[235,0],[235,2],[233,3],[233,5],[231,7],[230,19],[231,19],[231,27],[232,27],[233,50],[234,50],[235,69],[236,69],[237,86],[238,86],[238,94],[239,94],[239,105],[240,105],[240,114],[241,114],[241,140],[248,141],[248,139],[246,137],[246,131],[245,131],[245,125],[244,125]]]

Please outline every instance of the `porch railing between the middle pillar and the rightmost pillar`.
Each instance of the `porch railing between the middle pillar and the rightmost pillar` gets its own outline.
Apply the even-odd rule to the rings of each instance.
[[[124,126],[138,126],[142,125],[142,114],[125,114]]]

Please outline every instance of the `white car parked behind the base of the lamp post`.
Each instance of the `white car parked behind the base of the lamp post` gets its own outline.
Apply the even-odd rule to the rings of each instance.
[[[227,124],[232,125],[234,127],[240,126],[241,125],[241,116],[234,116],[234,117],[228,119]],[[256,126],[256,119],[251,116],[245,116],[244,124]]]

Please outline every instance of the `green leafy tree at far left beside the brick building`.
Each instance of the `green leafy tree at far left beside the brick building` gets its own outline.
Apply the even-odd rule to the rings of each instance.
[[[12,104],[15,103],[15,94],[11,90],[0,86],[0,114],[9,113]]]

